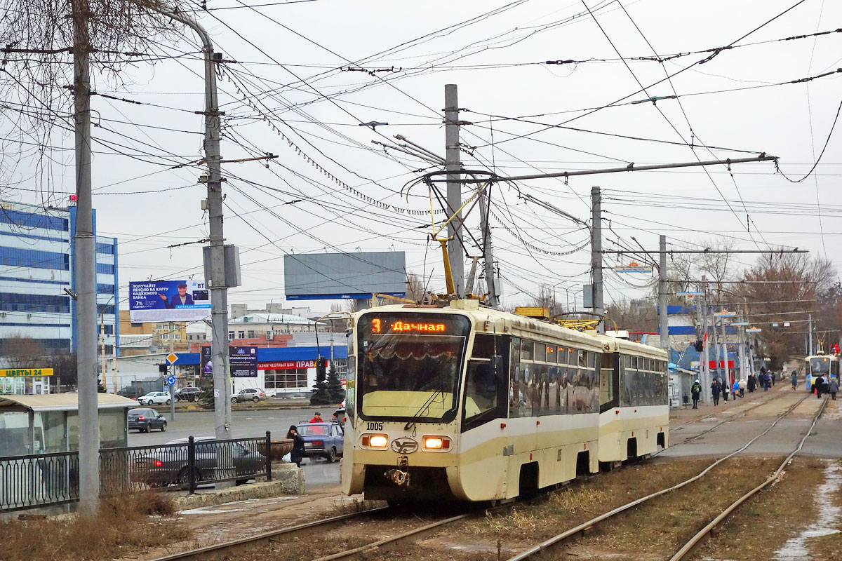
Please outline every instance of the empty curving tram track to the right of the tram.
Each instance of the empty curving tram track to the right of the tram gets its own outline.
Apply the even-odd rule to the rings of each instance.
[[[557,534],[553,537],[550,537],[549,539],[546,539],[543,542],[540,542],[540,543],[536,544],[535,546],[533,546],[531,548],[525,549],[525,551],[522,551],[522,552],[514,555],[513,557],[508,558],[507,561],[524,561],[525,559],[536,558],[536,556],[539,553],[545,552],[549,548],[557,547],[562,542],[568,542],[569,540],[571,540],[575,537],[584,536],[586,533],[591,532],[594,527],[600,525],[600,523],[603,523],[605,521],[608,521],[608,520],[612,519],[614,516],[616,516],[618,514],[621,514],[621,512],[629,511],[629,510],[637,507],[638,505],[642,505],[643,503],[646,503],[648,500],[652,500],[656,497],[666,495],[666,494],[670,493],[671,491],[679,490],[679,489],[681,489],[682,487],[685,487],[688,484],[691,484],[691,483],[694,483],[695,481],[698,481],[699,479],[703,478],[706,474],[710,473],[711,470],[713,470],[714,468],[716,468],[720,464],[726,462],[728,459],[733,458],[733,457],[737,456],[739,453],[742,453],[743,451],[745,451],[755,441],[757,441],[760,437],[764,437],[766,434],[768,434],[778,424],[779,421],[784,419],[787,415],[790,415],[791,412],[793,410],[795,410],[798,405],[801,405],[804,402],[804,400],[807,399],[807,397],[810,397],[810,396],[809,395],[803,396],[795,404],[791,405],[784,413],[782,413],[781,415],[778,415],[778,417],[775,418],[775,421],[772,421],[770,423],[770,425],[767,426],[766,429],[763,432],[759,433],[759,435],[753,437],[751,440],[749,440],[749,442],[746,442],[742,447],[738,448],[733,453],[729,453],[726,456],[717,459],[717,461],[711,463],[709,466],[707,466],[705,469],[703,469],[699,474],[696,474],[689,479],[685,479],[684,481],[680,482],[679,484],[671,485],[671,486],[669,486],[667,488],[664,488],[662,490],[658,490],[658,491],[655,491],[654,493],[651,493],[649,495],[645,495],[645,496],[642,496],[642,497],[640,497],[636,500],[632,500],[632,501],[626,503],[625,505],[618,506],[618,507],[616,507],[616,508],[614,508],[610,511],[607,511],[603,514],[600,514],[600,516],[595,516],[594,518],[591,518],[589,521],[584,521],[581,524],[578,524],[575,527],[569,528],[568,530],[566,530],[564,532],[561,532],[561,533],[559,533],[559,534]],[[679,551],[677,553],[675,553],[675,556],[673,558],[671,558],[670,561],[683,561],[684,559],[688,558],[690,553],[692,553],[692,551],[695,551],[695,548],[698,547],[699,544],[701,544],[702,539],[704,537],[708,536],[710,534],[711,530],[714,527],[716,527],[719,522],[724,520],[730,512],[732,512],[734,509],[736,509],[738,507],[738,505],[742,504],[751,495],[754,495],[759,490],[763,489],[766,485],[770,484],[772,481],[774,481],[777,478],[778,475],[780,475],[783,468],[786,467],[786,464],[791,462],[791,459],[794,458],[795,454],[798,451],[800,451],[801,448],[803,447],[804,442],[806,442],[807,437],[810,435],[810,432],[813,430],[813,427],[815,426],[816,422],[818,421],[818,418],[821,415],[821,413],[823,411],[823,408],[824,408],[824,405],[826,405],[826,403],[827,403],[827,398],[825,398],[825,401],[824,401],[823,405],[819,409],[818,413],[814,416],[813,425],[810,426],[810,429],[807,431],[807,434],[802,438],[802,441],[799,443],[798,447],[795,450],[793,450],[792,453],[789,456],[787,456],[787,458],[784,460],[783,463],[781,463],[781,466],[775,471],[775,473],[772,476],[770,476],[770,478],[766,479],[763,484],[759,485],[758,487],[755,487],[753,490],[750,490],[749,493],[740,497],[740,499],[738,499],[737,501],[732,503],[732,505],[729,505],[727,507],[727,509],[725,509],[725,511],[722,511],[722,513],[719,516],[717,516],[717,518],[714,519],[714,521],[711,521],[710,524],[706,525],[706,527],[702,528],[699,532],[697,532],[697,534],[690,540],[690,542],[685,543],[685,546],[682,546],[682,548],[680,548]],[[680,556],[679,556],[679,554],[680,554]]]

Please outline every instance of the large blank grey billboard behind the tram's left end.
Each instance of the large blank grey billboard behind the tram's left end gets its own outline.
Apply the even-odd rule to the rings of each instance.
[[[295,253],[284,256],[287,300],[365,299],[372,293],[406,296],[403,251]]]

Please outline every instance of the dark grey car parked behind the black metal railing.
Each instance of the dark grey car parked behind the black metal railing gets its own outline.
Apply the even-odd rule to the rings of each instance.
[[[214,437],[196,437],[194,442],[197,482],[231,479],[242,475],[242,479],[237,479],[237,484],[243,484],[255,474],[264,472],[266,457],[239,442],[216,442]],[[153,487],[188,484],[187,443],[187,438],[177,438],[134,458],[131,480]]]

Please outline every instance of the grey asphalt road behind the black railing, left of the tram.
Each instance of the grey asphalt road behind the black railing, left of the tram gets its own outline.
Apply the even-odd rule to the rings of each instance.
[[[232,411],[232,438],[265,437],[266,431],[271,431],[273,440],[284,438],[290,425],[297,425],[301,421],[310,421],[316,411],[322,413],[322,418],[330,419],[334,407],[327,409],[283,409],[283,410],[251,410]],[[167,417],[167,431],[152,431],[140,433],[129,432],[129,446],[155,446],[165,444],[176,438],[212,437],[214,435],[213,411],[195,411],[176,413],[175,421]],[[324,460],[305,459],[301,463],[307,489],[313,490],[324,485],[339,483],[339,463],[328,463]]]

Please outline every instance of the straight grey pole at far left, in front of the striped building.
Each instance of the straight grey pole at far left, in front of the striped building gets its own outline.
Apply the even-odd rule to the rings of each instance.
[[[79,405],[79,506],[93,513],[99,503],[99,410],[97,403],[96,254],[91,200],[91,82],[87,0],[73,0],[73,120],[76,135],[77,391]]]

